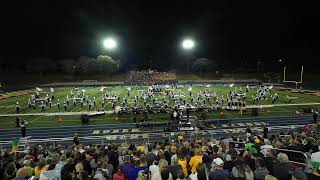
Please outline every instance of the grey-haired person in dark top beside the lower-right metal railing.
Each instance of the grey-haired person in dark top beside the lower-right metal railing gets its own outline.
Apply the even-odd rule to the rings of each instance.
[[[279,180],[289,179],[289,158],[284,153],[278,154],[278,163],[273,165],[273,176]]]

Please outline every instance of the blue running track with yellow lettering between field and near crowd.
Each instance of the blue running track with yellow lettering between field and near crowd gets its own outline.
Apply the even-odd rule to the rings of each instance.
[[[272,117],[272,118],[237,118],[237,119],[221,119],[208,120],[208,122],[215,126],[214,129],[199,131],[200,134],[207,137],[222,137],[236,134],[244,134],[245,128],[250,125],[254,131],[261,129],[262,123],[266,123],[271,127],[273,132],[288,132],[294,129],[301,129],[305,124],[313,122],[312,116],[290,116],[290,117]],[[153,130],[137,129],[135,124],[108,124],[108,125],[89,125],[89,126],[66,126],[57,128],[29,128],[27,129],[27,136],[31,139],[49,139],[49,138],[70,138],[75,133],[81,137],[99,137],[94,139],[82,139],[81,142],[101,143],[101,139],[108,141],[125,141],[127,139],[135,142],[142,142],[144,140],[154,141],[168,138],[170,132],[163,132],[165,123],[159,123]],[[187,136],[191,134],[187,133]],[[0,141],[10,141],[13,137],[21,137],[20,128],[0,129]],[[1,142],[0,142],[1,144]]]

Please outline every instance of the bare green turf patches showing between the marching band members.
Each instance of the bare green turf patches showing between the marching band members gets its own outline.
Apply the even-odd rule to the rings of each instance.
[[[128,102],[133,102],[136,95],[139,95],[142,90],[145,90],[147,87],[134,87],[131,92],[130,96],[127,96],[128,90],[126,87],[107,87],[105,88],[104,92],[107,92],[109,94],[119,95],[120,96],[120,102],[123,101],[123,98],[127,98]],[[191,97],[189,96],[188,91],[189,86],[186,87],[180,87],[178,89],[174,88],[174,92],[176,94],[181,93],[181,95],[184,95],[186,98],[186,102],[191,101]],[[239,86],[233,87],[232,89],[236,88],[239,90]],[[100,88],[93,88],[93,87],[87,87],[85,88],[86,92],[85,94],[88,95],[91,99],[93,97],[96,97],[97,106],[93,107],[91,111],[102,109],[101,107],[101,97],[102,92],[100,91]],[[221,98],[221,95],[224,95],[224,99],[226,101],[226,95],[230,91],[230,87],[228,86],[222,86],[222,85],[212,85],[210,88],[206,88],[203,86],[193,86],[192,87],[192,94],[194,96],[194,99],[196,99],[196,94],[206,91],[206,92],[216,92],[219,99]],[[245,90],[245,87],[242,87],[243,90]],[[67,94],[69,94],[71,90],[76,93],[77,91],[74,90],[74,87],[70,88],[55,88],[54,96],[55,101],[53,101],[53,105],[55,105],[56,100],[60,99],[60,106],[61,109],[58,109],[57,106],[53,106],[52,108],[46,107],[44,112],[64,112],[63,109],[63,101],[66,98]],[[44,89],[44,91],[49,91],[49,89]],[[256,93],[255,88],[250,88],[249,92],[247,93],[247,105],[252,105],[252,98],[251,95]],[[296,103],[320,103],[320,98],[312,95],[306,95],[306,94],[300,94],[300,93],[291,93],[287,91],[280,91],[273,89],[272,94],[277,93],[279,95],[279,100],[276,102],[276,104],[287,104],[288,99],[286,98],[287,95],[290,97],[296,97],[292,99],[291,104]],[[28,99],[31,95],[23,95],[19,97],[11,97],[8,99],[0,100],[0,114],[15,114],[15,104],[16,101],[19,102],[21,106],[21,113],[41,113],[41,109],[37,107],[37,109],[34,111],[32,109],[29,109],[28,107]],[[40,97],[45,97],[46,93],[40,94]],[[168,100],[168,97],[165,95],[161,95],[158,93],[156,95],[157,99],[165,98]],[[152,104],[152,100],[149,100],[149,104]],[[207,107],[211,107],[213,100],[210,100],[210,103],[206,103]],[[139,100],[139,105],[143,106],[143,101]],[[118,103],[119,104],[119,103]],[[118,105],[117,104],[117,105]],[[261,104],[271,104],[271,98],[270,96],[266,100],[262,100]],[[169,106],[172,105],[172,102],[169,103]],[[312,107],[316,107],[319,109],[319,105],[313,105]],[[272,116],[289,116],[289,115],[295,115],[296,110],[301,110],[303,106],[282,106],[282,107],[273,107],[268,109],[262,109],[259,113],[259,117],[272,117]],[[103,110],[111,110],[111,102],[105,101],[105,106],[103,107]],[[68,112],[79,112],[79,111],[88,111],[88,107],[81,108],[79,103],[76,107],[73,107],[72,103],[68,107]],[[224,111],[225,116],[224,118],[239,118],[240,114],[237,112],[228,112]],[[192,115],[201,116],[198,113],[193,113]],[[208,112],[206,113],[207,118],[221,118],[218,112]],[[251,111],[248,110],[248,112],[243,113],[242,117],[251,117]],[[23,116],[23,119],[26,119],[29,123],[29,127],[55,127],[55,126],[68,126],[68,125],[79,125],[80,124],[80,116],[79,115],[72,115],[72,116]],[[138,120],[143,120],[144,116],[139,115]],[[150,114],[149,115],[149,121],[153,122],[159,122],[159,121],[167,121],[169,120],[168,114]],[[128,123],[132,122],[132,116],[131,115],[118,115],[118,114],[109,114],[109,115],[102,115],[93,117],[90,119],[91,124],[108,124],[108,123]],[[15,126],[15,117],[0,117],[0,128],[12,128]]]

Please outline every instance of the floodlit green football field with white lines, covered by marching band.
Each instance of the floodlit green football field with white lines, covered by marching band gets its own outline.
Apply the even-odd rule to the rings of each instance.
[[[167,92],[170,92],[180,99],[182,103],[195,104],[197,96],[201,94],[215,94],[216,98],[205,98],[205,103],[200,100],[201,105],[206,109],[204,112],[192,112],[191,115],[205,117],[207,119],[230,119],[240,117],[251,117],[251,107],[259,108],[258,117],[274,117],[274,116],[296,116],[296,111],[303,111],[303,108],[317,108],[320,107],[320,97],[315,95],[308,95],[303,93],[291,92],[288,90],[280,90],[272,88],[271,92],[266,95],[265,99],[261,99],[259,103],[253,103],[253,96],[257,94],[257,88],[249,87],[246,92],[246,86],[230,86],[230,85],[178,85],[167,86],[161,92],[155,92],[152,98],[143,99],[143,94],[147,92],[148,86],[108,86],[108,87],[63,87],[63,88],[42,88],[41,90],[32,89],[24,93],[6,94],[0,99],[0,128],[14,128],[16,126],[15,119],[20,117],[23,120],[29,122],[28,127],[57,127],[57,126],[73,126],[80,125],[79,112],[97,112],[105,111],[104,115],[98,115],[90,117],[90,124],[108,124],[108,123],[132,123],[133,115],[130,112],[131,105],[136,103],[137,106],[145,108],[146,105],[155,106],[154,102],[166,102],[169,107],[174,105],[174,101]],[[224,99],[224,103],[221,107],[226,106],[227,96],[230,91],[239,93],[246,93],[246,106],[247,111],[244,111],[242,115],[239,111],[228,111],[222,108],[219,111],[212,111],[213,105],[216,100],[221,101]],[[29,107],[28,101],[31,96],[38,92],[39,97],[35,104],[35,110]],[[191,95],[190,95],[191,92]],[[12,93],[13,94],[13,93]],[[83,106],[80,105],[80,101],[75,100],[78,94],[82,94],[83,97],[89,99],[89,103],[83,102]],[[110,100],[102,98],[105,95],[110,97]],[[272,95],[277,94],[278,100],[272,104]],[[41,108],[42,102],[47,97],[54,99],[51,101],[51,107],[43,103],[44,109]],[[124,114],[114,112],[112,104],[114,102],[113,97],[117,97],[117,102],[114,103],[115,111],[118,111],[120,106],[124,103],[128,108]],[[69,104],[64,108],[66,100],[69,99]],[[289,100],[291,99],[291,101]],[[75,102],[75,105],[73,104]],[[95,103],[93,103],[95,102]],[[103,102],[103,105],[102,105]],[[20,107],[19,113],[16,112],[17,103]],[[60,104],[60,108],[58,108]],[[89,104],[91,107],[89,108]],[[95,104],[95,105],[94,105]],[[74,112],[74,113],[73,113]],[[221,115],[223,112],[223,116]],[[185,113],[183,114],[185,115]],[[146,119],[149,122],[169,121],[169,113],[159,113],[153,111],[149,114],[136,115],[137,121],[143,121]]]

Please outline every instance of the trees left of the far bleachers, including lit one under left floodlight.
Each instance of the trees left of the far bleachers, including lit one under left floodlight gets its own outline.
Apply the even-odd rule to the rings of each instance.
[[[112,75],[120,69],[120,60],[115,60],[108,55],[98,57],[80,56],[72,59],[30,58],[26,61],[11,60],[1,63],[2,72],[22,71],[33,74],[63,73],[67,75],[81,74],[104,74]]]

